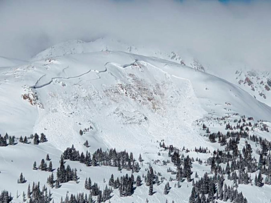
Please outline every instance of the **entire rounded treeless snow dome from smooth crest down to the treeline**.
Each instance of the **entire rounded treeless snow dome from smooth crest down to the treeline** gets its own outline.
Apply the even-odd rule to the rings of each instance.
[[[159,139],[194,147],[201,137],[193,122],[204,116],[249,112],[270,120],[271,115],[268,106],[225,80],[125,52],[47,58],[3,75],[15,78],[3,90],[19,89],[15,100],[6,98],[6,118],[23,120],[28,133],[44,132],[61,150],[71,144],[82,147],[84,139],[77,135],[89,126],[104,148],[148,148],[147,142]],[[9,115],[19,103],[25,113]],[[3,131],[18,133],[7,125]]]

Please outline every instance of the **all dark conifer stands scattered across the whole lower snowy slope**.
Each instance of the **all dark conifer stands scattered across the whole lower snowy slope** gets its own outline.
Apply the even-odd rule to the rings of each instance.
[[[228,132],[223,135],[220,131],[217,133],[211,133],[209,128],[203,124],[202,129],[206,130],[208,133],[208,138],[210,142],[218,142],[221,146],[225,146],[225,150],[215,150],[213,151],[213,156],[207,159],[207,164],[210,164],[211,167],[211,175],[207,173],[204,174],[199,180],[194,182],[193,180],[193,188],[189,198],[189,203],[207,203],[213,202],[215,200],[221,201],[230,201],[235,203],[246,203],[247,199],[242,195],[242,193],[238,193],[237,188],[238,184],[251,184],[258,187],[263,186],[263,184],[271,185],[271,142],[261,137],[255,135],[249,135],[250,131],[253,131],[253,128],[260,128],[260,130],[268,131],[268,128],[265,124],[254,123],[251,122],[246,123],[246,120],[253,120],[253,118],[246,119],[245,117],[241,117],[239,120],[235,120],[237,123],[236,126],[230,125],[230,123],[226,124],[225,129]],[[243,123],[242,123],[243,122]],[[238,129],[238,130],[237,130]],[[35,133],[35,135],[30,136],[33,139],[33,144],[37,145],[41,142],[46,142],[46,136],[41,133],[39,135]],[[238,149],[238,145],[240,139],[249,139],[260,145],[261,150],[257,150],[256,153],[260,155],[259,160],[255,157],[252,157],[252,148],[251,145],[245,140],[245,146],[242,150]],[[8,136],[6,134],[4,137],[0,135],[0,146],[6,146],[7,139],[9,139],[8,144],[15,144],[15,137]],[[21,136],[19,142],[28,143],[27,137],[23,139]],[[89,146],[88,142],[85,142],[85,146]],[[165,146],[164,142],[160,147],[164,148],[164,150],[168,150],[168,157],[171,158],[171,162],[176,166],[176,171],[168,169],[167,172],[170,172],[173,175],[176,175],[176,180],[178,181],[178,188],[180,187],[180,182],[185,178],[188,182],[192,181],[192,162],[193,158],[189,156],[184,156],[184,154],[180,154],[180,150],[178,148],[173,147],[173,145]],[[185,150],[185,148],[183,148]],[[198,153],[210,153],[208,148],[195,148],[195,152]],[[269,153],[268,153],[269,151]],[[186,149],[185,152],[189,152]],[[139,163],[134,159],[133,154],[124,151],[117,152],[115,149],[110,149],[108,151],[102,151],[102,149],[97,149],[92,155],[87,151],[86,154],[83,152],[80,154],[74,146],[71,148],[67,148],[63,154],[61,155],[60,166],[57,169],[56,180],[54,174],[51,173],[47,179],[47,183],[52,188],[61,187],[60,183],[66,183],[68,181],[75,181],[77,183],[77,170],[71,169],[69,165],[65,167],[64,160],[69,159],[70,161],[79,161],[80,163],[86,164],[86,166],[112,166],[118,167],[118,170],[126,169],[132,170],[131,176],[128,174],[121,176],[120,178],[114,179],[114,175],[112,174],[108,185],[106,185],[104,190],[102,191],[97,183],[91,182],[91,179],[86,179],[85,181],[85,189],[89,190],[89,195],[84,193],[78,193],[77,195],[66,195],[65,200],[61,198],[61,203],[92,203],[94,202],[92,196],[97,196],[96,203],[105,202],[111,198],[111,193],[113,192],[112,188],[118,189],[120,196],[131,196],[136,187],[142,185],[141,177],[138,175],[136,180],[134,179],[133,172],[139,172],[140,167]],[[46,161],[50,161],[49,155],[46,156]],[[141,155],[138,159],[139,162],[142,162]],[[196,159],[199,161],[200,159]],[[169,162],[169,161],[168,161]],[[167,163],[168,163],[167,162]],[[202,161],[201,161],[202,163]],[[226,164],[226,168],[221,167],[221,163]],[[47,167],[47,163],[44,159],[41,160],[40,165],[37,167],[36,162],[33,164],[34,170],[44,170],[44,171],[53,171],[52,162],[50,161],[49,167]],[[153,185],[160,184],[158,179],[158,174],[154,173],[153,168],[149,165],[149,168],[146,169],[147,174],[142,177],[145,180],[146,186],[149,187],[149,195],[153,195]],[[249,173],[255,173],[259,171],[253,179],[251,179],[251,175]],[[266,178],[263,182],[262,174],[266,175]],[[197,178],[197,173],[195,174]],[[228,180],[233,181],[232,186],[226,185],[224,182],[224,178],[227,177]],[[169,181],[173,180],[170,178]],[[163,182],[163,177],[161,178]],[[23,174],[20,174],[20,178],[18,179],[18,183],[25,183],[26,180],[23,177]],[[176,186],[176,184],[175,184]],[[165,184],[164,194],[167,195],[170,192],[169,182]],[[29,198],[29,203],[49,203],[51,201],[51,193],[47,191],[47,187],[43,186],[42,190],[40,190],[39,183],[33,183],[32,191],[30,189],[30,185],[28,186],[27,198]],[[7,191],[2,191],[0,195],[0,202],[8,203],[12,199],[11,195],[8,195]],[[23,193],[23,202],[26,201],[25,193]]]

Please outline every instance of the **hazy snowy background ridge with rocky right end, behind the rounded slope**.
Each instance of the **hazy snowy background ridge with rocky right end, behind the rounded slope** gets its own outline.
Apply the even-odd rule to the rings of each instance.
[[[240,88],[244,89],[257,100],[271,106],[270,92],[271,81],[269,71],[250,70],[249,68],[240,69],[243,64],[232,64],[230,62],[224,64],[221,62],[210,61],[211,64],[202,64],[201,61],[194,58],[192,54],[179,52],[178,49],[145,47],[140,45],[129,45],[125,42],[114,40],[111,38],[100,38],[92,42],[83,42],[81,40],[71,40],[54,45],[33,57],[33,61],[46,58],[59,57],[64,55],[74,55],[81,53],[100,52],[100,51],[123,51],[132,54],[139,54],[151,57],[165,59],[167,61],[176,62],[188,67],[192,67],[202,72],[207,72],[223,78]],[[229,68],[231,66],[231,68]],[[236,69],[232,68],[236,67]],[[230,71],[229,71],[230,70]],[[235,71],[236,70],[236,71]],[[269,80],[268,80],[269,79]]]

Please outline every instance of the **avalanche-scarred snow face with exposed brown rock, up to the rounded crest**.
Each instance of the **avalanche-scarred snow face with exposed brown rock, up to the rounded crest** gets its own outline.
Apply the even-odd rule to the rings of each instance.
[[[33,131],[45,132],[61,150],[71,144],[82,147],[78,132],[89,126],[102,146],[121,149],[146,148],[157,139],[197,138],[192,123],[205,111],[191,82],[161,70],[167,61],[153,59],[156,67],[147,59],[97,52],[36,61],[36,81],[27,84],[43,108]]]

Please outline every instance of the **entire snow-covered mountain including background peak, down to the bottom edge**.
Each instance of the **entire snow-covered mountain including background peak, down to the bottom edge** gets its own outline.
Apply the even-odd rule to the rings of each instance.
[[[254,98],[243,86],[204,72],[204,67],[196,59],[182,58],[173,51],[136,48],[123,42],[98,39],[93,42],[76,40],[58,44],[40,52],[23,65],[11,66],[0,69],[0,132],[2,137],[6,132],[15,136],[15,143],[18,143],[13,145],[11,138],[7,146],[0,147],[0,181],[3,183],[0,184],[0,189],[11,192],[12,202],[22,202],[23,192],[27,193],[28,184],[32,189],[33,182],[39,181],[41,187],[45,184],[49,189],[50,181],[47,178],[51,174],[55,177],[51,184],[51,198],[54,202],[61,202],[61,197],[65,198],[66,195],[70,197],[70,194],[78,192],[89,195],[85,186],[86,178],[90,177],[92,183],[96,182],[104,194],[103,190],[108,185],[111,174],[116,179],[126,173],[128,176],[133,174],[135,179],[139,175],[142,185],[133,184],[132,195],[127,197],[121,195],[119,189],[113,189],[111,202],[145,202],[146,198],[149,202],[195,202],[193,198],[204,199],[205,195],[209,200],[217,196],[218,202],[227,199],[230,201],[233,198],[230,189],[228,198],[225,195],[223,199],[221,195],[226,193],[223,183],[229,187],[235,186],[239,202],[245,202],[242,195],[248,202],[270,200],[269,179],[261,187],[254,184],[255,174],[258,176],[262,173],[266,178],[271,172],[263,168],[270,168],[270,157],[263,149],[267,145],[270,150],[269,103],[265,104],[257,97]],[[238,81],[241,76],[241,73],[236,76],[239,77]],[[265,83],[269,85],[267,75],[265,77]],[[259,85],[262,86],[261,83]],[[208,128],[205,129],[203,124]],[[231,126],[236,126],[237,129]],[[231,134],[229,132],[227,137],[221,138],[218,131],[223,135],[227,131]],[[250,138],[244,132],[257,136],[257,139],[255,136]],[[35,133],[44,133],[48,142],[37,145],[33,136],[30,136]],[[20,136],[26,136],[31,143],[20,142]],[[226,144],[228,142],[227,145],[223,139]],[[89,147],[86,147],[86,140]],[[165,146],[161,146],[159,142],[164,142]],[[103,151],[115,148],[116,151],[132,152],[136,161],[128,156],[125,163],[114,167],[108,162],[112,161],[114,165],[116,160],[109,161],[107,157],[103,161],[99,155],[97,162],[100,161],[101,166],[87,166],[85,161],[73,161],[78,157],[69,157],[70,160],[65,160],[65,167],[69,164],[71,168],[76,168],[79,179],[63,182],[57,188],[55,185],[60,173],[57,175],[61,154],[72,145],[80,153],[83,152],[84,156],[87,151],[90,152],[92,161],[100,153],[96,151],[99,148]],[[250,159],[247,158],[246,150],[242,150],[243,147],[249,148],[248,145],[252,148]],[[200,147],[207,148],[206,153],[199,152]],[[239,154],[236,147],[240,150]],[[218,149],[221,150],[219,153],[213,152]],[[229,152],[227,158],[226,155],[222,158],[224,152]],[[47,154],[55,170],[44,171],[42,166],[39,170],[33,170],[33,162],[36,161],[38,167]],[[67,154],[64,154],[64,158],[65,155]],[[138,159],[139,155],[144,161]],[[246,159],[242,155],[246,155]],[[106,156],[107,154],[104,155]],[[191,161],[191,181],[185,173],[178,181],[176,173],[179,174],[180,169],[174,161],[176,156],[180,156],[184,171],[187,171],[187,164]],[[216,161],[212,157],[216,157]],[[140,162],[140,170],[132,173],[129,161],[134,166],[136,162]],[[231,166],[229,171],[227,161]],[[240,163],[238,167],[234,165],[235,161]],[[46,162],[49,164],[49,160]],[[248,163],[246,166],[241,164],[245,162]],[[257,170],[254,168],[255,164],[260,165]],[[152,171],[150,166],[154,174],[148,173],[148,170]],[[206,178],[206,172],[209,177],[213,177],[215,171],[225,178],[222,188],[219,185],[221,179],[215,176],[212,180],[205,179],[215,188],[209,189],[210,191],[207,189],[206,193],[201,194],[197,185],[200,183],[194,183]],[[241,174],[246,172],[251,175],[253,185],[251,180],[248,180],[249,184],[243,181],[245,178]],[[23,173],[26,182],[17,183],[20,173]],[[147,173],[152,174],[155,179],[150,183],[153,185],[151,194],[148,180],[147,183],[144,181]],[[228,173],[231,174],[229,180]],[[170,188],[167,187],[167,182]],[[190,197],[193,186],[197,192]],[[168,191],[165,192],[165,188]],[[35,193],[30,191],[31,198],[26,196],[27,201],[34,199],[33,192]],[[235,192],[234,195],[238,193]],[[99,202],[96,195],[93,195],[93,199]]]

